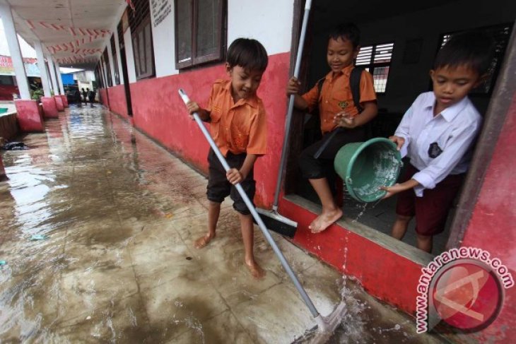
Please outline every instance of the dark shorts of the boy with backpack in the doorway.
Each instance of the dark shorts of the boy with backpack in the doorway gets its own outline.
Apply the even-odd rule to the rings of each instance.
[[[331,134],[331,132],[324,134],[319,141],[313,143],[312,146],[308,146],[301,152],[299,156],[299,167],[301,175],[303,175],[304,178],[320,179],[332,177],[335,173],[333,162],[339,149],[346,143],[365,141],[365,127],[360,126],[354,129],[346,129],[337,133],[334,138],[332,138],[332,141],[329,142],[328,146],[324,148],[319,158],[315,159],[315,153]]]

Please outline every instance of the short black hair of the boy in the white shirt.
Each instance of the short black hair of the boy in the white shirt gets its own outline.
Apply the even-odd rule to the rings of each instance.
[[[483,76],[493,59],[493,38],[484,32],[464,32],[453,35],[439,50],[433,69],[467,66]]]

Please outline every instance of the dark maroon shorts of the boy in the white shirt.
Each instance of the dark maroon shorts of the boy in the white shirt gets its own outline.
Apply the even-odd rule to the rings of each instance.
[[[408,165],[401,182],[411,179],[416,172],[416,167]],[[403,216],[416,215],[416,232],[418,235],[430,237],[445,230],[446,218],[453,206],[453,201],[460,186],[464,174],[450,174],[434,189],[425,189],[423,197],[416,197],[414,189],[409,189],[398,194],[396,213]]]

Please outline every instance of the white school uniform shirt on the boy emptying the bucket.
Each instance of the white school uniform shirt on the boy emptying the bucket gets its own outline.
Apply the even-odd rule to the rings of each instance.
[[[416,196],[422,197],[424,189],[433,189],[448,174],[461,174],[468,170],[471,145],[479,133],[482,117],[468,97],[433,116],[435,95],[421,93],[405,112],[394,135],[405,139],[401,155],[420,172],[414,174],[419,185]],[[435,143],[437,146],[435,146]],[[433,155],[430,157],[430,145]]]

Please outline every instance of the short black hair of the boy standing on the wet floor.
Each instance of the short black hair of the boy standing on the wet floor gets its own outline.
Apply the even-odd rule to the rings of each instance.
[[[250,71],[265,71],[269,57],[262,43],[250,38],[237,38],[228,49],[228,64]]]

